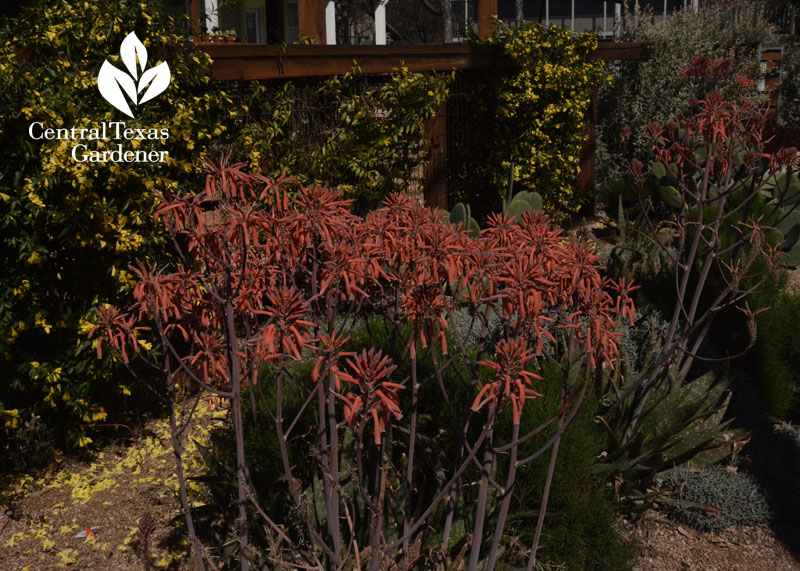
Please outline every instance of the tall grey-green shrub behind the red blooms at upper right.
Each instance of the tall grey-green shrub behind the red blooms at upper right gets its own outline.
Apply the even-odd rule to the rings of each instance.
[[[666,26],[652,18],[652,9],[626,12],[622,41],[651,45],[644,61],[619,62],[613,87],[600,91],[597,129],[598,181],[620,178],[632,158],[650,162],[647,127],[667,125],[686,114],[692,99],[714,89],[730,100],[757,98],[754,87],[744,87],[737,76],[758,79],[758,45],[780,45],[760,8],[749,2],[703,4],[670,15]],[[731,67],[713,78],[685,75],[692,59],[726,59]],[[623,130],[629,136],[622,138]],[[627,133],[628,131],[626,131]]]

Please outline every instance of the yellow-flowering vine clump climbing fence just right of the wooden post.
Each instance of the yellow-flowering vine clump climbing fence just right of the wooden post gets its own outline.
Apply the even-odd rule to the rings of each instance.
[[[576,211],[586,111],[592,91],[610,81],[604,63],[588,59],[597,37],[534,23],[500,26],[483,42],[500,46],[505,68],[476,78],[468,96],[469,129],[480,136],[454,168],[478,196],[460,198],[496,202],[513,171],[515,192],[535,191],[547,209]]]

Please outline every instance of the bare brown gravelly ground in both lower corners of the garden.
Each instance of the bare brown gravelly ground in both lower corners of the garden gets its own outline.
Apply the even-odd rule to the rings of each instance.
[[[184,462],[193,475],[203,470],[194,442],[207,444],[224,416],[210,404],[198,410],[184,438]],[[156,523],[150,564],[192,569],[188,544],[175,533],[182,516],[174,467],[167,423],[153,420],[132,445],[107,446],[93,462],[63,461],[38,479],[0,482],[15,496],[0,514],[0,570],[144,569],[138,529],[145,514]],[[199,489],[191,491],[200,502]],[[100,526],[94,535],[75,537],[92,526]],[[766,526],[701,533],[650,511],[623,527],[640,547],[637,571],[800,571],[800,562]]]

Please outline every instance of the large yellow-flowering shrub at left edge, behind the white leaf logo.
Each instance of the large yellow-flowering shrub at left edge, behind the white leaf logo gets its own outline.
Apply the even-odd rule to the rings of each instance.
[[[194,163],[225,128],[230,102],[211,89],[209,59],[182,45],[158,2],[35,3],[0,29],[0,416],[6,437],[38,418],[69,444],[90,442],[106,417],[100,395],[128,391],[97,360],[86,334],[98,304],[128,303],[128,265],[163,255],[152,221],[156,193],[197,182]],[[128,119],[97,89],[104,60],[119,68],[130,33],[148,67],[168,62],[172,81]],[[98,149],[169,152],[166,163],[76,162],[69,140],[33,140],[29,127],[168,129],[159,141],[97,141]],[[82,141],[91,149],[94,141]],[[59,439],[60,440],[60,439]]]

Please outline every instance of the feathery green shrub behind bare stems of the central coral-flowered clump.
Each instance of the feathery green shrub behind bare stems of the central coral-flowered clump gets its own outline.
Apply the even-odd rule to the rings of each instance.
[[[461,311],[460,314],[461,317],[457,318],[457,323],[464,323],[467,319],[465,312]],[[464,326],[465,329],[469,329],[468,324]],[[493,334],[489,332],[490,336]],[[455,341],[451,339],[451,342]],[[377,346],[388,351],[390,343],[391,340],[379,327],[379,321],[375,319],[369,331],[363,324],[356,326],[348,349],[358,351],[363,347]],[[292,366],[292,374],[297,378],[308,376],[313,364],[311,359],[305,359]],[[406,374],[409,370],[409,363],[406,361],[398,364],[400,365],[400,374]],[[419,374],[421,377],[430,373],[431,369],[432,363],[429,360],[420,362]],[[450,368],[445,371],[443,382],[456,389],[461,374],[464,374],[464,371],[459,373]],[[526,403],[526,407],[530,407],[530,410],[523,416],[523,430],[530,429],[549,418],[558,408],[560,379],[555,370],[550,370],[549,373],[546,372],[542,376],[544,379],[540,381],[541,385],[537,388],[541,390],[544,398]],[[267,367],[260,376],[259,387],[261,388],[256,389],[264,391],[266,402],[273,407],[273,410],[275,405],[274,380],[274,371]],[[452,430],[452,419],[449,417],[446,407],[442,406],[437,398],[438,394],[434,386],[423,385],[421,387],[420,401],[427,405],[419,416],[419,446],[424,452],[420,454],[419,461],[424,462],[421,471],[429,473],[432,480],[442,477],[443,470],[449,465],[451,456],[458,446],[457,435]],[[471,400],[466,387],[462,390],[453,390],[451,398],[456,409],[468,405]],[[301,389],[298,388],[287,400],[284,414],[288,418],[294,416],[303,404],[304,395]],[[249,464],[249,472],[254,483],[254,491],[270,517],[278,521],[292,521],[292,518],[297,516],[291,512],[289,498],[281,486],[274,485],[283,477],[280,463],[274,461],[276,455],[279,455],[278,441],[274,433],[259,428],[260,422],[269,422],[269,420],[262,404],[263,401],[257,399],[256,402],[256,417],[259,420],[254,421],[250,415],[246,415],[245,418],[245,447],[247,454],[253,459]],[[563,565],[566,569],[598,571],[631,568],[635,546],[622,538],[617,528],[617,514],[610,491],[598,486],[594,478],[595,457],[602,452],[605,444],[605,435],[594,422],[597,405],[597,399],[587,403],[587,406],[566,431],[561,444],[540,547],[540,561],[548,565]],[[505,417],[503,420],[509,422],[499,424],[510,424],[510,411],[505,413]],[[309,437],[309,431],[318,422],[317,418],[314,407],[310,407],[295,428],[294,433],[297,436],[294,436],[290,442],[295,474],[304,481],[315,482],[315,485],[309,486],[303,492],[308,501],[309,513],[313,518],[322,517],[324,514],[321,488],[318,486],[319,482],[313,478],[315,465],[320,461],[318,444]],[[505,428],[499,432],[503,434],[503,438],[508,436],[505,434],[508,432]],[[552,434],[552,430],[546,431],[546,434],[528,441],[520,451],[520,458],[538,449]],[[392,454],[394,464],[401,467],[403,466],[404,449],[398,444],[393,445]],[[345,450],[341,462],[343,474],[347,475],[342,476],[340,484],[343,490],[351,491],[353,481],[349,471],[354,469],[352,466],[354,461],[352,441],[348,441],[346,437],[344,445]],[[230,544],[234,539],[235,532],[235,457],[232,431],[226,429],[218,432],[213,439],[211,448],[204,454],[207,474],[198,478],[205,484],[208,496],[205,505],[194,509],[203,539],[209,544],[219,547],[218,549],[211,547],[212,552],[220,556],[218,563],[229,564],[232,567],[235,567],[235,558],[232,553],[226,554],[224,546],[226,543]],[[369,462],[373,460],[367,457],[365,464],[369,465]],[[538,511],[533,506],[537,506],[539,503],[546,472],[547,462],[544,459],[527,464],[518,472],[514,501],[509,516],[509,529],[503,542],[505,546],[503,561],[507,565],[514,563],[525,565],[525,550],[530,548],[538,516]],[[394,476],[392,478],[394,479]],[[477,470],[472,470],[471,475],[466,477],[465,481],[478,478]],[[498,470],[494,478],[497,481],[503,481],[505,474],[502,473],[502,470]],[[398,487],[402,486],[399,480],[394,484]],[[397,493],[396,504],[402,505],[402,489],[398,489]],[[421,484],[415,493],[429,494],[429,486]],[[467,495],[465,502],[468,502],[469,489],[465,493]],[[474,491],[472,495],[474,495]],[[453,554],[458,553],[465,542],[469,541],[472,522],[469,520],[468,511],[465,505],[463,513],[460,509],[454,519],[451,540],[451,553]],[[387,517],[391,517],[390,514],[390,510],[387,510]],[[263,534],[262,526],[253,525],[252,534],[253,545],[260,548],[254,552],[269,553],[269,538]],[[364,539],[366,540],[366,538]],[[359,544],[361,544],[361,540],[359,540]],[[436,548],[436,544],[426,544],[423,546],[423,552]]]

